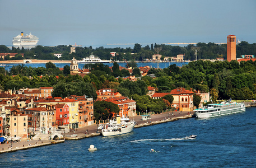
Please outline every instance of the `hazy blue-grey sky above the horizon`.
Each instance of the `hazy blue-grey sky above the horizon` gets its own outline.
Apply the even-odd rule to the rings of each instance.
[[[43,46],[256,43],[255,0],[0,0],[0,16],[0,45],[21,31]]]

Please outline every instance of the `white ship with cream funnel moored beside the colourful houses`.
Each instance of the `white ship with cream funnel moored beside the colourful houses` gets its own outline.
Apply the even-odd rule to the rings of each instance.
[[[107,124],[100,124],[98,129],[101,130],[101,134],[104,137],[107,136],[117,136],[120,134],[125,134],[132,132],[136,122],[130,120],[129,118],[117,116],[117,120],[110,120]]]

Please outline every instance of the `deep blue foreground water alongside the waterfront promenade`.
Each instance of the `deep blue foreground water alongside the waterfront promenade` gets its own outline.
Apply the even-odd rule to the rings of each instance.
[[[0,167],[255,167],[256,108],[2,153]],[[196,139],[184,139],[196,134]],[[89,152],[90,144],[98,149]],[[0,145],[1,146],[1,145]],[[150,152],[154,149],[157,152]]]

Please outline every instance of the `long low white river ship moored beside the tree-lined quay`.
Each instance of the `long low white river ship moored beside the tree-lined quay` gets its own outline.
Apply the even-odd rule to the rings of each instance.
[[[214,116],[221,116],[227,114],[234,114],[245,111],[245,105],[243,102],[221,102],[221,104],[208,104],[202,109],[194,110],[194,114],[197,118],[211,118]]]

